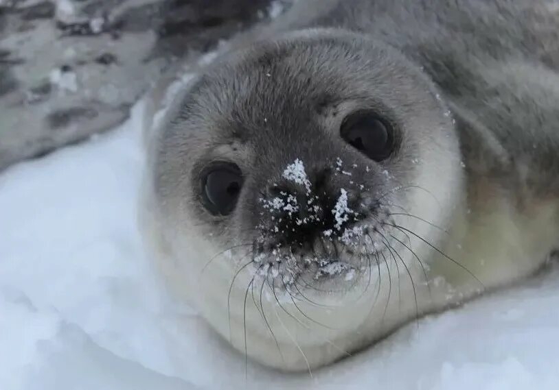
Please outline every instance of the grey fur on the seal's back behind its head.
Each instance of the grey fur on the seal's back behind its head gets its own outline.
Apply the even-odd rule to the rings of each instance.
[[[320,9],[319,3],[297,6]],[[505,184],[559,191],[558,1],[327,3],[329,9],[315,18],[293,12],[303,16],[293,16],[287,28],[343,27],[398,48],[442,90],[459,121],[464,159],[476,175],[493,172]]]

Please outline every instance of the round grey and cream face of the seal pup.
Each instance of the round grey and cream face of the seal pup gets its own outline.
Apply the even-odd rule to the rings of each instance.
[[[410,245],[439,240],[417,215],[450,218],[458,155],[433,85],[366,36],[324,30],[230,53],[161,128],[152,207],[174,260],[159,264],[255,360],[317,367],[423,310],[408,297],[391,315],[397,289],[400,301],[426,293],[426,246]],[[369,318],[383,324],[358,331]]]

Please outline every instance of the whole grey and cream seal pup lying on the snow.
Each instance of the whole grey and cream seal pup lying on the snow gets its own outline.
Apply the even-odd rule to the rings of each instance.
[[[174,297],[312,371],[532,275],[559,241],[558,20],[300,0],[231,42],[147,137],[140,225]]]

